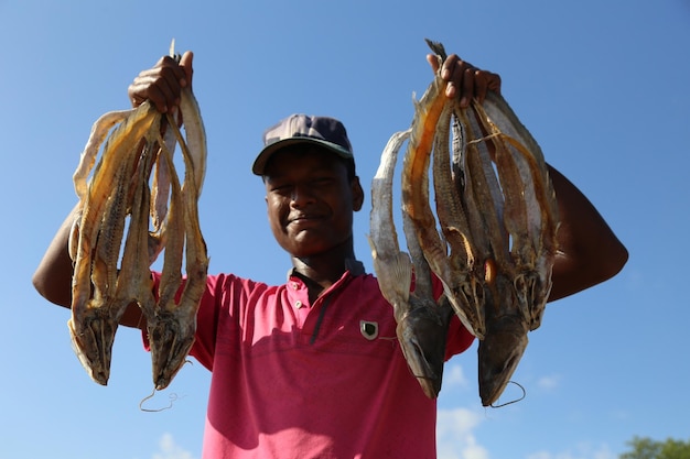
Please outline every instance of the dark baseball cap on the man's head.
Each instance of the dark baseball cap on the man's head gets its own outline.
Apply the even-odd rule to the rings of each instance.
[[[343,123],[335,118],[291,114],[263,132],[263,150],[251,166],[256,175],[263,175],[273,153],[288,145],[313,143],[345,160],[354,160],[353,147]]]

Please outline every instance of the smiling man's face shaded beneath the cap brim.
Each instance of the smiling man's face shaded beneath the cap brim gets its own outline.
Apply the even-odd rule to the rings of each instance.
[[[352,238],[353,211],[362,208],[364,192],[334,153],[288,146],[270,159],[265,183],[271,230],[292,256],[322,254]]]

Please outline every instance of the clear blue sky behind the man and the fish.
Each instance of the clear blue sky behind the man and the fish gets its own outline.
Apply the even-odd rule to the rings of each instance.
[[[476,347],[451,360],[441,459],[613,459],[635,435],[690,438],[690,2],[457,0],[0,1],[4,223],[0,457],[201,457],[208,373],[186,365],[143,413],[150,360],[120,328],[110,383],[74,356],[67,310],[31,275],[76,196],[91,123],[128,107],[127,86],[168,52],[195,52],[208,135],[200,203],[211,272],[278,283],[288,256],[249,172],[263,129],[292,112],[348,128],[368,184],[412,92],[431,80],[424,37],[503,77],[547,161],[594,203],[630,260],[614,280],[551,304],[514,379],[520,403],[481,406]],[[357,215],[371,270],[369,204]],[[509,396],[507,394],[507,396]],[[400,401],[405,403],[405,401]]]

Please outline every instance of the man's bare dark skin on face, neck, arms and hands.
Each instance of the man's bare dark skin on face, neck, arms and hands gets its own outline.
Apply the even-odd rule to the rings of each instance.
[[[139,74],[128,89],[133,106],[149,99],[159,111],[175,110],[180,90],[192,84],[191,52],[177,64],[162,57],[155,66]],[[435,56],[428,56],[435,72]],[[500,91],[500,77],[478,69],[451,55],[443,63],[445,95],[467,106],[472,98],[484,99],[487,90]],[[590,200],[560,172],[549,166],[558,198],[561,226],[559,252],[553,265],[553,287],[549,300],[572,295],[604,282],[625,265],[627,250]],[[315,299],[335,283],[354,260],[353,214],[362,208],[364,190],[357,177],[334,154],[323,154],[313,145],[300,145],[276,153],[263,177],[267,212],[278,243],[290,254],[292,265]],[[69,307],[72,260],[67,252],[74,211],[51,242],[33,276],[41,295]],[[130,305],[121,324],[144,328],[137,305]]]

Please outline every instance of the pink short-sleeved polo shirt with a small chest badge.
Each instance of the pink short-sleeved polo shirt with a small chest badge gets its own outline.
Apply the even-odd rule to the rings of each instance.
[[[448,358],[472,336],[454,320]],[[346,272],[310,304],[208,276],[192,354],[212,371],[203,458],[435,458],[435,401],[411,375],[376,278]]]

